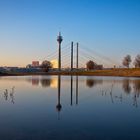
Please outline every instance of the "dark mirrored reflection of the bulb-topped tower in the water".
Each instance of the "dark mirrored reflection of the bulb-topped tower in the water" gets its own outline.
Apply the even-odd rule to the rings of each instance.
[[[61,76],[58,75],[58,103],[56,105],[56,109],[58,112],[61,111],[62,109],[62,106],[61,106],[61,103],[60,103],[60,92],[61,92]]]

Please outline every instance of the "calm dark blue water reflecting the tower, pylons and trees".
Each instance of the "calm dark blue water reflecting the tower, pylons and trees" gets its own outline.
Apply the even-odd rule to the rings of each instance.
[[[140,140],[140,79],[0,77],[0,140]]]

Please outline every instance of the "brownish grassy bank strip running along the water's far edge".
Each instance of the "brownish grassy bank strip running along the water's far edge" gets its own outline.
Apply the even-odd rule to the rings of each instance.
[[[60,71],[60,72],[37,72],[37,73],[0,73],[0,76],[23,76],[23,75],[92,75],[92,76],[124,76],[140,77],[140,68],[109,69],[93,71]]]

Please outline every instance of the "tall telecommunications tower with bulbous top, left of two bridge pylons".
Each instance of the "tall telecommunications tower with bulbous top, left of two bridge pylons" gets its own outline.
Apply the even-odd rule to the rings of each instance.
[[[59,44],[59,51],[58,51],[58,69],[61,70],[61,42],[63,41],[63,38],[61,36],[61,33],[59,32],[59,35],[57,36],[57,42]]]

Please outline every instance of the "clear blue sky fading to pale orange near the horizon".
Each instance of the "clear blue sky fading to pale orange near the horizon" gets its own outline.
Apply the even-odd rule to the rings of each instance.
[[[0,0],[0,66],[48,59],[59,31],[62,48],[79,42],[97,63],[121,65],[140,54],[140,0]]]

